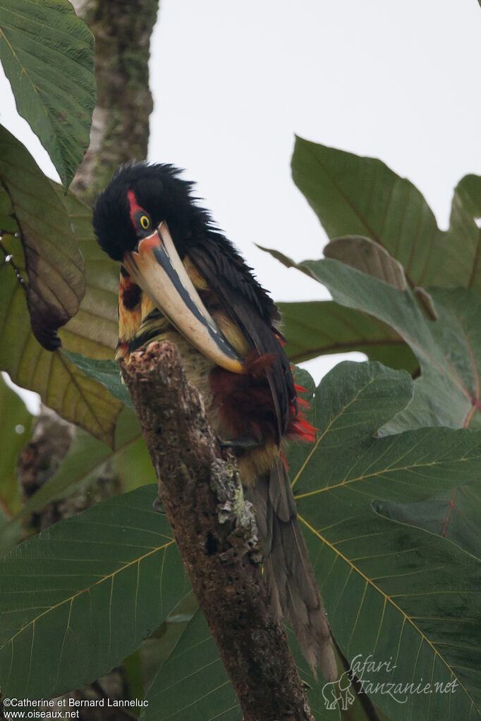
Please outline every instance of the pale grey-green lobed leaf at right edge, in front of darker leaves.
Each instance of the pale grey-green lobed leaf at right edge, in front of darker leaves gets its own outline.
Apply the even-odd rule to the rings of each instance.
[[[435,322],[420,311],[411,291],[400,291],[337,260],[291,265],[319,280],[343,306],[369,313],[394,329],[418,358],[421,376],[409,406],[381,433],[448,425],[481,428],[481,298],[467,288],[431,288]]]

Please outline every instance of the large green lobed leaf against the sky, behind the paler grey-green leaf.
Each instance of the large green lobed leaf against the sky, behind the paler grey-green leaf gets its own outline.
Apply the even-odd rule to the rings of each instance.
[[[377,159],[296,138],[292,173],[331,239],[349,234],[374,240],[402,264],[407,282],[416,292],[418,286],[427,285],[480,290],[480,177],[467,175],[459,182],[449,230],[440,231],[415,186]],[[293,265],[280,252],[269,252],[288,267]],[[431,313],[429,296],[420,291],[418,297]],[[349,309],[339,318],[335,304],[318,304],[317,308],[306,305],[304,326],[300,304],[282,306],[287,317],[286,350],[297,362],[348,348],[366,353],[371,360],[414,370],[409,349],[395,333],[400,345],[392,345],[393,331],[385,324],[366,320]],[[314,310],[319,311],[317,317]]]

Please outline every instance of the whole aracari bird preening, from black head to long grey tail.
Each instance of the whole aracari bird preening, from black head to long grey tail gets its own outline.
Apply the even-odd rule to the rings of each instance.
[[[283,460],[288,438],[314,440],[278,329],[281,317],[172,165],[120,167],[94,206],[100,247],[120,262],[119,341],[128,358],[153,340],[180,350],[209,422],[237,456],[255,506],[273,611],[306,659],[336,676],[325,609]]]

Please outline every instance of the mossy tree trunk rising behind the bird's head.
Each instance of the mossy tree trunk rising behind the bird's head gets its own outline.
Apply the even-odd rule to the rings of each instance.
[[[149,143],[150,37],[158,0],[72,0],[95,38],[97,106],[90,146],[71,189],[92,203],[120,163],[144,160]]]

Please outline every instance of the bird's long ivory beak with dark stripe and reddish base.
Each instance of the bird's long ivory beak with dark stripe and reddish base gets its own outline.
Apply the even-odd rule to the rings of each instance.
[[[232,373],[243,373],[241,358],[200,300],[164,222],[139,242],[137,251],[125,253],[123,265],[137,285],[200,353]]]

